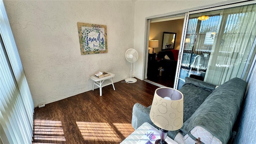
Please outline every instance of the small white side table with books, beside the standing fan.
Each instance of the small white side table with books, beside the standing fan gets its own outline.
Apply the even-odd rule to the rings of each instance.
[[[102,87],[104,86],[108,86],[110,84],[112,84],[113,89],[115,89],[114,83],[112,78],[114,78],[115,74],[112,74],[110,72],[107,72],[108,74],[110,74],[110,76],[106,76],[103,78],[96,78],[94,75],[90,77],[90,79],[93,80],[93,87],[92,90],[94,90],[94,85],[98,86],[100,88],[100,96],[102,96]]]

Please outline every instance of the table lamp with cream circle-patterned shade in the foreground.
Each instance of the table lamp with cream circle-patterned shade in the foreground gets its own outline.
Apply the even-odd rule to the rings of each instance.
[[[168,130],[179,130],[183,125],[183,94],[173,88],[156,89],[150,119],[160,128],[160,139],[155,144],[167,144]]]

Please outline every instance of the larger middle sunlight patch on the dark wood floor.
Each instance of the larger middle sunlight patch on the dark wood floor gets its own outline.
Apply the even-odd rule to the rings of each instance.
[[[121,142],[114,128],[104,122],[76,122],[84,140]]]

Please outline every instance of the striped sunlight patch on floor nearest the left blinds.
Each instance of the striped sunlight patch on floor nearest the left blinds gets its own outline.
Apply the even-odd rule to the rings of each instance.
[[[34,120],[34,140],[66,141],[61,121]]]

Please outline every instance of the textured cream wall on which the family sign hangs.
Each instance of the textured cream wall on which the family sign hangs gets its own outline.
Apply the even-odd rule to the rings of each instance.
[[[4,1],[34,106],[92,90],[97,70],[130,76],[132,1]],[[108,53],[80,54],[77,22],[107,26]]]

